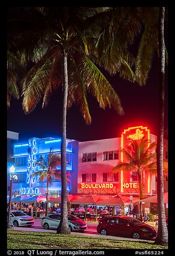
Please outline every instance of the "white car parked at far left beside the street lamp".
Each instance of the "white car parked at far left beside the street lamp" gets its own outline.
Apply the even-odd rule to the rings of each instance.
[[[12,210],[10,216],[10,223],[13,226],[32,226],[34,224],[34,218],[25,214],[23,211]]]

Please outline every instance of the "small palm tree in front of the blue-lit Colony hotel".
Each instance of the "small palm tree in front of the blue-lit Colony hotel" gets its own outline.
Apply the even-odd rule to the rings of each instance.
[[[61,170],[57,169],[58,166],[60,166],[61,163],[61,157],[58,154],[50,152],[48,155],[47,160],[43,159],[41,157],[38,161],[35,162],[35,165],[39,166],[39,169],[37,172],[33,173],[32,176],[39,176],[39,181],[44,183],[47,182],[46,185],[46,201],[48,201],[48,189],[52,185],[52,182],[55,179],[61,180]],[[70,175],[69,172],[67,172],[67,176]],[[69,181],[67,177],[67,181]],[[46,203],[46,216],[48,215],[48,205]]]

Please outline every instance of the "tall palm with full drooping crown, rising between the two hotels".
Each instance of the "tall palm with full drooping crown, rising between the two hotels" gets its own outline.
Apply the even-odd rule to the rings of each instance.
[[[41,10],[42,9],[42,10]],[[23,108],[30,113],[43,99],[46,106],[54,90],[63,93],[62,141],[61,141],[61,184],[62,215],[57,233],[70,233],[67,219],[66,181],[66,116],[67,109],[75,103],[86,121],[91,123],[88,95],[92,94],[101,108],[113,108],[120,114],[123,109],[120,99],[106,77],[95,65],[98,52],[93,38],[88,38],[83,29],[84,20],[92,15],[92,8],[40,8],[43,13],[42,30],[32,44],[37,63],[28,71],[22,81]],[[96,11],[96,10],[94,10]],[[40,24],[41,25],[41,24]],[[40,31],[42,34],[40,34]],[[35,32],[35,31],[34,31]],[[34,37],[34,33],[32,37]],[[38,41],[39,34],[42,39]],[[26,40],[26,39],[25,39]],[[34,40],[33,40],[34,41]],[[45,53],[43,47],[45,46]]]

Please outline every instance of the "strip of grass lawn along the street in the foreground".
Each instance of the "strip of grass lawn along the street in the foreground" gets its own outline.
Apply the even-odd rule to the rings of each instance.
[[[7,231],[8,249],[167,249],[154,241],[128,241],[79,234]]]

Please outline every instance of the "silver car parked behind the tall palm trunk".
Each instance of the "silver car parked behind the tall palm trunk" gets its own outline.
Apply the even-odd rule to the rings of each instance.
[[[49,214],[42,218],[41,226],[44,229],[57,229],[60,219],[61,213]],[[84,231],[87,229],[86,222],[72,214],[68,214],[68,224],[70,231]]]

